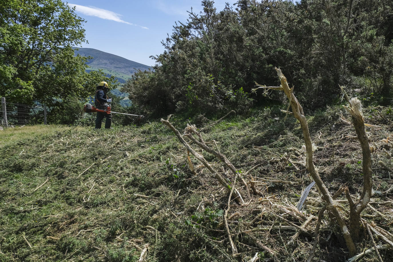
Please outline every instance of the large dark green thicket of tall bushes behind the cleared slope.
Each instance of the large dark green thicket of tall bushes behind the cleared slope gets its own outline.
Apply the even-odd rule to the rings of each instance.
[[[308,108],[329,103],[339,85],[392,95],[392,1],[239,0],[217,12],[189,12],[162,42],[154,71],[125,85],[133,102],[155,114],[239,108],[254,81],[277,85],[280,67]],[[238,92],[242,90],[241,92]],[[243,99],[233,102],[233,94]],[[261,97],[254,97],[260,102]]]

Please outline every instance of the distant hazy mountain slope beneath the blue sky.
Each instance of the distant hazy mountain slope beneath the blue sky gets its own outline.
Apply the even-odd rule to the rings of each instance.
[[[138,70],[149,70],[150,66],[134,62],[118,55],[112,55],[93,48],[73,48],[75,55],[93,57],[86,64],[90,68],[86,71],[102,69],[108,76],[114,75],[119,82],[124,83]],[[78,49],[78,50],[77,50]]]

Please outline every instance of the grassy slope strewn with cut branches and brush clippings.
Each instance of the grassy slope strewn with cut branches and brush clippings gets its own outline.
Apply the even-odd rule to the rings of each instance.
[[[315,165],[329,191],[349,182],[357,196],[362,192],[361,148],[351,137],[353,127],[339,121],[340,114],[350,119],[338,106],[309,116]],[[393,116],[383,107],[365,108],[364,114],[366,123],[382,128],[367,128],[375,147],[375,194],[363,217],[393,233],[393,180],[378,164],[393,167],[387,139]],[[196,175],[190,172],[187,151],[162,123],[113,130],[24,126],[3,131],[0,261],[138,261],[142,253],[144,261],[249,261],[255,255],[260,261],[307,260],[316,220],[290,240],[302,220],[318,215],[323,201],[314,188],[303,213],[294,211],[312,179],[304,167],[299,125],[290,116],[286,122],[283,118],[279,108],[264,108],[204,131],[204,140],[226,155],[245,180],[255,181],[260,194],[248,198],[239,188],[247,203],[232,202],[228,226],[239,253],[235,256],[220,225],[228,193],[193,156]],[[179,130],[186,125],[175,117],[171,122]],[[211,123],[203,118],[192,122],[198,127]],[[198,152],[228,183],[233,180],[214,156]],[[345,196],[337,205],[347,208]],[[314,261],[349,258],[336,230],[325,215]],[[358,250],[372,245],[367,239]],[[392,261],[392,248],[380,254]],[[358,261],[378,258],[371,252]]]

